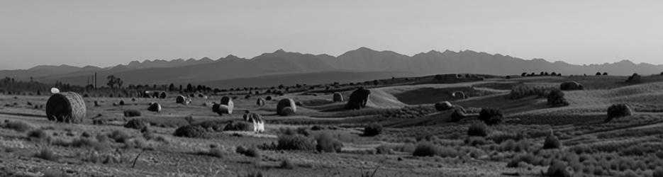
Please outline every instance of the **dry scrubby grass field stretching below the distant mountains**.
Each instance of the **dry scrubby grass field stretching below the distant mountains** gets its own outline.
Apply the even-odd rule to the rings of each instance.
[[[256,100],[267,95],[238,96],[230,115],[212,112],[222,96],[189,105],[175,103],[178,93],[86,97],[80,124],[49,121],[49,96],[0,95],[0,176],[663,176],[663,76],[637,84],[625,76],[394,80],[370,87],[361,110],[344,109],[354,86],[336,88],[344,102],[306,89],[269,95],[264,105]],[[584,89],[562,91],[567,105],[549,105],[550,88],[565,81]],[[518,86],[547,89],[512,98]],[[277,115],[282,98],[296,101],[296,113]],[[436,110],[442,101],[468,116]],[[162,111],[148,111],[152,102]],[[606,121],[617,103],[633,113]],[[245,111],[262,116],[264,132],[252,131]],[[186,126],[199,135],[176,136]]]

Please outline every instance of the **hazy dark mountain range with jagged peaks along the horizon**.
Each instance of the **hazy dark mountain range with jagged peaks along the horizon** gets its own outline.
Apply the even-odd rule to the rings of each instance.
[[[574,65],[548,62],[545,59],[520,59],[508,55],[464,50],[422,52],[407,56],[367,47],[345,52],[338,57],[277,50],[251,59],[233,55],[220,59],[174,59],[130,62],[115,67],[37,66],[30,69],[3,70],[0,77],[18,80],[85,85],[94,73],[98,85],[114,75],[128,84],[206,84],[219,88],[238,86],[274,86],[275,84],[324,84],[334,81],[367,81],[391,76],[420,76],[444,73],[519,75],[522,72],[557,72],[568,74],[611,75],[659,74],[663,65],[635,64],[628,60],[615,63]]]

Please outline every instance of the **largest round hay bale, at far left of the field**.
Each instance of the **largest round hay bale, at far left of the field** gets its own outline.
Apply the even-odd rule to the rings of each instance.
[[[83,97],[74,92],[55,93],[46,102],[46,117],[56,122],[83,122],[86,111]]]

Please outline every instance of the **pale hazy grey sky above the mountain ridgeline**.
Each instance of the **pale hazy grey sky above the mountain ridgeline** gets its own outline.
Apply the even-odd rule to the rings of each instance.
[[[416,3],[415,3],[416,2]],[[0,1],[0,69],[475,50],[663,64],[663,1]]]

